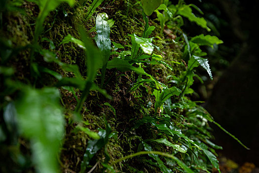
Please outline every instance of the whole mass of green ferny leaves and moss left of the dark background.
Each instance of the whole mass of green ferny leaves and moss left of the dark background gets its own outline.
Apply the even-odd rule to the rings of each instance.
[[[220,172],[208,123],[224,129],[190,97],[196,70],[213,79],[202,47],[223,42],[197,6],[0,3],[1,173]]]

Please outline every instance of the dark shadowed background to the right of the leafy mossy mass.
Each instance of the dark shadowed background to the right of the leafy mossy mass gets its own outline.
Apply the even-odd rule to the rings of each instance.
[[[210,33],[202,32],[216,35],[224,42],[216,47],[217,52],[211,51],[207,57],[214,82],[205,80],[206,91],[201,89],[200,84],[196,84],[194,87],[202,97],[194,99],[206,100],[204,107],[215,121],[251,148],[246,150],[225,132],[212,125],[215,142],[223,147],[223,150],[218,152],[238,164],[252,162],[259,167],[258,1],[186,2],[199,6],[205,18],[217,28]],[[201,32],[192,23],[188,23],[185,30],[189,36]]]

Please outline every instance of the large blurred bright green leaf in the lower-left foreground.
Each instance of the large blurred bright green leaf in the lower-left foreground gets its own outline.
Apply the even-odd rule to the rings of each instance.
[[[57,88],[24,88],[16,102],[23,134],[31,141],[32,161],[39,173],[57,173],[57,155],[64,135],[64,117]]]

